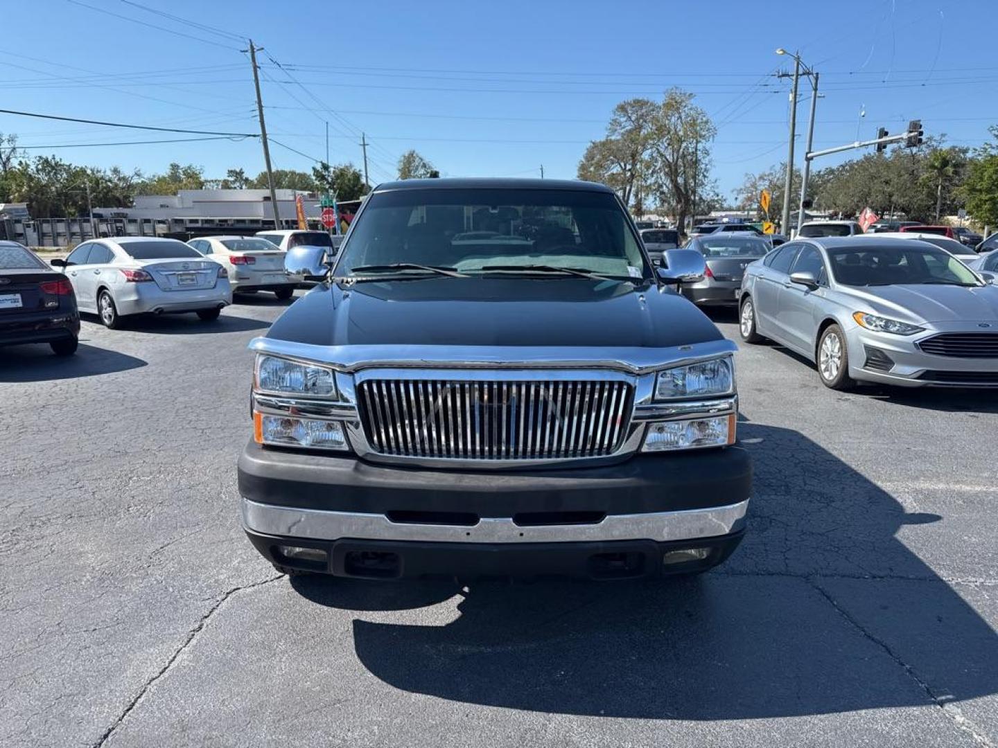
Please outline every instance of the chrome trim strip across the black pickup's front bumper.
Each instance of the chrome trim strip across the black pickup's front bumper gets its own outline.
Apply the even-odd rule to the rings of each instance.
[[[726,507],[609,515],[592,525],[520,527],[508,517],[482,518],[477,525],[413,525],[384,515],[277,507],[242,500],[243,527],[262,535],[337,541],[343,538],[428,543],[571,543],[593,541],[686,541],[729,535],[745,525],[749,500]]]

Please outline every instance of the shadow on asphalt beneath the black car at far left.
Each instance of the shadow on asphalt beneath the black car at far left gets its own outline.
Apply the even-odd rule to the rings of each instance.
[[[106,348],[80,343],[73,356],[56,356],[48,344],[0,348],[0,382],[51,382],[113,374],[146,366],[146,362]]]

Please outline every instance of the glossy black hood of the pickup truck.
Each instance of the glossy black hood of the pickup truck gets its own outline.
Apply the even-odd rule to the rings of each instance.
[[[587,278],[420,278],[322,284],[266,337],[310,345],[664,348],[721,340],[672,290]]]

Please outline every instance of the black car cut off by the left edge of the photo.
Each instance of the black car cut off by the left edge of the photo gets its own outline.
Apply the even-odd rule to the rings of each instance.
[[[48,343],[76,353],[80,313],[69,278],[16,241],[0,241],[0,345]]]

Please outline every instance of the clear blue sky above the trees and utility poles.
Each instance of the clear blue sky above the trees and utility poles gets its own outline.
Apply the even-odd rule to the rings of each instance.
[[[305,155],[274,145],[274,168],[307,171],[306,157],[324,158],[328,122],[333,163],[359,166],[367,134],[375,183],[394,177],[410,148],[443,176],[539,176],[543,165],[547,177],[574,178],[617,102],[679,86],[719,126],[714,175],[726,197],[785,155],[789,83],[772,74],[788,58],[776,47],[799,49],[820,73],[815,148],[872,138],[880,126],[899,132],[913,118],[926,135],[973,146],[998,124],[994,0],[138,1],[5,4],[2,107],[253,133],[250,63],[235,34],[265,48],[273,139]],[[801,132],[806,115],[802,99]],[[45,147],[194,137],[10,115],[0,115],[0,132]],[[194,163],[207,177],[255,175],[263,162],[255,140],[30,153],[147,173]]]

